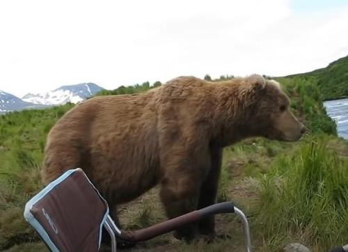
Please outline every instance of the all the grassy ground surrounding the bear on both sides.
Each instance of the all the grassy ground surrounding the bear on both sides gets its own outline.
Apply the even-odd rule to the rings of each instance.
[[[298,143],[248,139],[226,148],[219,201],[235,200],[251,219],[255,251],[278,251],[287,242],[303,242],[324,251],[348,237],[348,145],[336,137],[325,113],[316,79],[280,78],[296,115],[309,128]],[[159,85],[159,83],[157,83]],[[150,84],[103,91],[135,93]],[[0,116],[0,251],[45,251],[24,221],[24,204],[42,188],[45,139],[56,120],[74,105]],[[126,228],[164,219],[157,188],[120,209]],[[139,244],[148,251],[240,251],[244,239],[234,216],[218,216],[217,228],[232,235],[214,244],[183,244],[171,235]]]

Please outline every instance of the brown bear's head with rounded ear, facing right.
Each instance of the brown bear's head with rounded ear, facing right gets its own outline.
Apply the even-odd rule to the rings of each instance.
[[[244,100],[242,104],[248,107],[245,126],[251,136],[297,141],[306,132],[306,127],[290,111],[289,97],[278,82],[253,74],[241,81],[239,95]]]

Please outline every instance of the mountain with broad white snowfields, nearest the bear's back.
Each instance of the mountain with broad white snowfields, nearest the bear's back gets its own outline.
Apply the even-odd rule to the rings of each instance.
[[[22,100],[34,104],[45,105],[59,105],[65,104],[66,102],[77,103],[95,95],[103,89],[104,88],[101,88],[93,83],[83,83],[71,86],[61,86],[60,88],[47,93],[28,93],[22,97]]]

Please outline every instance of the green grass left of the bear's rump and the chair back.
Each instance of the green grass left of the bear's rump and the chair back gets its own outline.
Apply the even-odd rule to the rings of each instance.
[[[38,241],[24,204],[42,188],[40,166],[49,129],[72,104],[0,116],[0,251]]]

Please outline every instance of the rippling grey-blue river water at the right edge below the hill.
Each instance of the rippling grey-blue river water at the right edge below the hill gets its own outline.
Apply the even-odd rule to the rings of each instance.
[[[324,107],[337,124],[338,136],[348,139],[348,99],[326,101]]]

